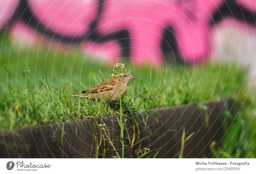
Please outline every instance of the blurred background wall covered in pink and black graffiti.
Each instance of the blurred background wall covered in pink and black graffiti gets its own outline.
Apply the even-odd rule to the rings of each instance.
[[[14,43],[78,44],[92,62],[255,63],[255,0],[1,0]],[[250,48],[250,49],[249,49]]]

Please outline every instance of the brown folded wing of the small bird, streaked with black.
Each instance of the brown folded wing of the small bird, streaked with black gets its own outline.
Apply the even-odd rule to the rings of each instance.
[[[109,91],[109,90],[113,89],[114,85],[115,85],[115,81],[110,79],[110,80],[107,80],[105,82],[98,84],[97,86],[95,86],[89,90],[82,91],[82,94],[83,93],[97,93],[97,92],[101,92],[101,91]]]

